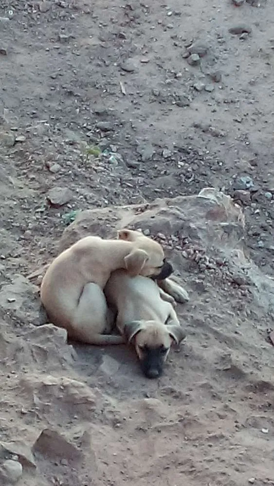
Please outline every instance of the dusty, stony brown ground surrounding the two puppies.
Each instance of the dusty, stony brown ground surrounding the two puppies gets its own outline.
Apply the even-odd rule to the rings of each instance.
[[[2,483],[274,484],[274,4],[235,3],[0,2]],[[39,326],[80,209],[61,245],[123,217],[189,292],[159,381]]]

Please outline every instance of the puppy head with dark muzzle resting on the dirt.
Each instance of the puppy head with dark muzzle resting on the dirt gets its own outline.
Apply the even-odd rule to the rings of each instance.
[[[135,349],[141,368],[147,378],[159,378],[173,342],[180,344],[185,338],[178,324],[164,325],[158,321],[132,321],[126,323],[124,334]]]

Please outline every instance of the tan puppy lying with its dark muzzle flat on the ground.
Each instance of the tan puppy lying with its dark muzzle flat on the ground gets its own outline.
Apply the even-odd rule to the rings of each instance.
[[[179,344],[185,337],[174,308],[161,294],[151,278],[130,278],[124,270],[113,272],[105,287],[107,302],[117,312],[117,328],[128,342],[135,339],[147,378],[162,374],[172,342]]]

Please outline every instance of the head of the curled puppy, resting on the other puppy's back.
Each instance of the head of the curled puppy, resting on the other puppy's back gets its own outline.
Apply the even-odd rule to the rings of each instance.
[[[160,243],[132,229],[118,231],[118,240],[133,243],[132,251],[125,257],[125,267],[132,277],[142,275],[164,280],[172,274],[172,265],[165,260]]]

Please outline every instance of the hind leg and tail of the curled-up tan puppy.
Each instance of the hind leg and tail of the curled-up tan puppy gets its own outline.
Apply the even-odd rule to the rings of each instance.
[[[108,331],[108,306],[105,295],[95,283],[87,283],[74,313],[69,337],[98,346],[123,344],[123,336],[104,334]]]

